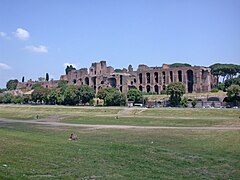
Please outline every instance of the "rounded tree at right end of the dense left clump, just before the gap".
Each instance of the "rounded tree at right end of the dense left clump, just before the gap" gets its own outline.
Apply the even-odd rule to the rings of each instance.
[[[87,85],[83,85],[79,88],[79,96],[83,104],[89,103],[95,97],[94,89]]]

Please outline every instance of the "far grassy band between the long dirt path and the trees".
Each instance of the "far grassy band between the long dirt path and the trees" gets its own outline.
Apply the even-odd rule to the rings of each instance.
[[[225,126],[240,125],[239,109],[125,108],[0,105],[0,117],[41,119],[73,124],[136,126]],[[116,119],[115,117],[119,117]]]

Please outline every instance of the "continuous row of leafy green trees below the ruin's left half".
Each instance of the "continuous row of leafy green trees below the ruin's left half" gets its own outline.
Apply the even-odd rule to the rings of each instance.
[[[142,102],[143,94],[137,89],[129,90],[127,94],[120,92],[116,88],[103,88],[95,94],[92,87],[87,85],[76,86],[69,85],[67,81],[59,81],[58,88],[46,89],[40,84],[32,86],[34,90],[31,95],[13,96],[11,93],[0,96],[0,103],[15,104],[49,104],[49,105],[86,105],[93,104],[93,99],[104,100],[106,106],[125,105],[127,100]]]

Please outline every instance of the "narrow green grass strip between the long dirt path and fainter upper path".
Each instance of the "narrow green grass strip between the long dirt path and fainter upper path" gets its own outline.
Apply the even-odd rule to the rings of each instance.
[[[240,126],[239,118],[204,118],[204,119],[181,119],[180,118],[157,118],[157,117],[119,117],[116,119],[113,116],[75,116],[66,117],[60,120],[64,123],[72,124],[104,124],[104,125],[131,125],[131,126],[178,126],[178,127],[208,127],[208,126],[227,126],[238,125]]]

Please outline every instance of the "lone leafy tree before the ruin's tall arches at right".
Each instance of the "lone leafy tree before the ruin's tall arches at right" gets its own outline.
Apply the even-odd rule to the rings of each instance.
[[[181,97],[186,92],[185,86],[180,82],[172,82],[167,86],[167,94],[170,95],[170,103],[173,106],[178,106]]]

